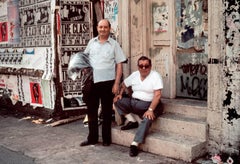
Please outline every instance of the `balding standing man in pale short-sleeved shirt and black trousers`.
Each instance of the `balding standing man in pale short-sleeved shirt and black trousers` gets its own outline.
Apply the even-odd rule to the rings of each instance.
[[[119,91],[123,68],[126,61],[119,43],[109,37],[111,24],[108,20],[100,20],[97,26],[98,36],[91,39],[84,51],[89,54],[90,65],[93,68],[93,85],[87,97],[87,115],[89,134],[80,146],[98,143],[98,108],[102,106],[102,140],[103,146],[112,142],[112,106],[113,97]]]

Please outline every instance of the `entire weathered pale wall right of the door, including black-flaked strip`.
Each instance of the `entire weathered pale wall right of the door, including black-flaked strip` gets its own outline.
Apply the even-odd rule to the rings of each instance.
[[[239,153],[239,5],[237,0],[209,5],[207,120],[212,153]]]

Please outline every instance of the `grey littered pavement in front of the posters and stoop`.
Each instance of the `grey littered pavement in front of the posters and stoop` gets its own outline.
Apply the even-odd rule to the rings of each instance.
[[[0,109],[1,164],[188,164],[143,151],[130,157],[129,147],[116,144],[80,147],[88,134],[83,119],[53,127],[53,120],[6,111]]]

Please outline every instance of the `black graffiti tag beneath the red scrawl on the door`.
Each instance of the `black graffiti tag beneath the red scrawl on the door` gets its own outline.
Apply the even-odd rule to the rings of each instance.
[[[206,99],[207,97],[207,79],[193,77],[190,79],[180,76],[181,79],[181,92],[187,91],[188,95],[197,96],[200,99]]]

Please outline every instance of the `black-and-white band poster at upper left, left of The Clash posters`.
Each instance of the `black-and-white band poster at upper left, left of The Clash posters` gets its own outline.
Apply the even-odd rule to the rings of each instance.
[[[50,47],[51,1],[20,1],[21,47]]]

